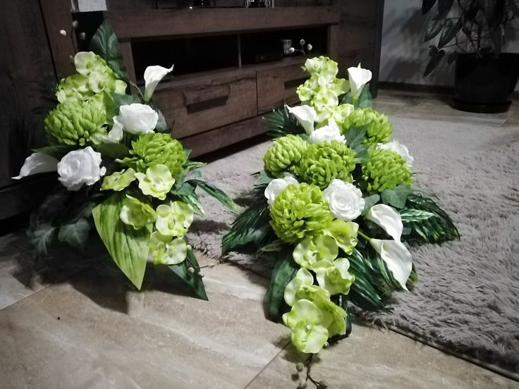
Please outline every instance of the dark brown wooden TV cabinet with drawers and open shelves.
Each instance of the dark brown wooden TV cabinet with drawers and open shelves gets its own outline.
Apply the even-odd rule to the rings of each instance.
[[[108,11],[104,17],[138,85],[146,66],[175,63],[153,99],[192,156],[258,135],[263,130],[254,118],[298,101],[305,57],[283,56],[282,39],[297,47],[304,38],[312,54],[338,56],[334,6]]]

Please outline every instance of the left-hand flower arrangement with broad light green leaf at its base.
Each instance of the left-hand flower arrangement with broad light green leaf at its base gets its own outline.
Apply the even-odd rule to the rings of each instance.
[[[171,137],[152,104],[159,81],[173,70],[149,66],[145,92],[126,94],[117,39],[104,23],[93,51],[75,54],[77,73],[56,87],[59,101],[44,120],[49,145],[29,156],[16,178],[57,171],[59,187],[32,215],[28,235],[39,254],[58,240],[84,248],[91,228],[128,279],[140,289],[148,258],[171,268],[206,298],[200,266],[185,233],[204,214],[197,187],[236,211],[232,200],[201,179],[204,163]],[[129,81],[128,81],[129,82]]]

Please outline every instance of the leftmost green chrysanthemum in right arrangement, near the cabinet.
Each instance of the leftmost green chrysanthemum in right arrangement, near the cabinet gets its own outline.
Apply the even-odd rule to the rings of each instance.
[[[276,177],[283,177],[286,171],[294,173],[307,147],[307,142],[296,135],[286,135],[275,140],[263,156],[265,170]]]

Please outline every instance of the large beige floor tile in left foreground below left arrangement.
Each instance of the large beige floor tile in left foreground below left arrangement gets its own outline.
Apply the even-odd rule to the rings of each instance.
[[[142,292],[96,265],[0,311],[6,388],[243,388],[286,342],[266,280],[204,269],[210,302],[151,268]]]

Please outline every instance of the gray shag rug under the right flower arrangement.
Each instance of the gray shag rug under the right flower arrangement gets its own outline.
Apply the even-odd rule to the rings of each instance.
[[[391,118],[394,137],[415,157],[415,186],[433,192],[461,240],[413,247],[419,283],[398,292],[391,314],[358,312],[379,323],[519,380],[519,128]],[[269,142],[209,163],[203,170],[240,205]],[[209,257],[269,276],[272,263],[221,257],[235,216],[204,198],[207,216],[190,240]]]

